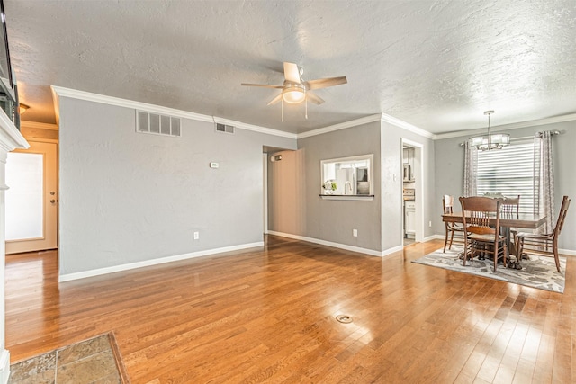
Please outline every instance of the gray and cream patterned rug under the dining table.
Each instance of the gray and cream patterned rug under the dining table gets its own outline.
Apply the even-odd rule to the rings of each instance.
[[[444,268],[456,272],[464,272],[482,276],[489,279],[512,282],[514,284],[526,285],[527,287],[539,290],[551,290],[553,292],[564,292],[566,258],[560,257],[562,272],[556,271],[554,257],[544,257],[530,255],[530,260],[522,260],[522,270],[504,268],[500,264],[496,273],[492,271],[494,262],[492,260],[467,260],[463,265],[463,260],[459,258],[462,247],[452,247],[452,250],[442,252],[442,248],[431,254],[425,255],[412,263],[430,265]]]

